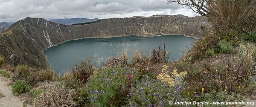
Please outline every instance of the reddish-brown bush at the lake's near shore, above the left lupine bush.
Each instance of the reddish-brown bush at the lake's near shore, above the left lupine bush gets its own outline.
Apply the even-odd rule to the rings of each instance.
[[[94,68],[90,62],[81,61],[76,64],[76,68],[73,69],[72,72],[77,74],[81,81],[87,82],[87,80],[90,78],[90,75],[93,74],[93,69]]]

